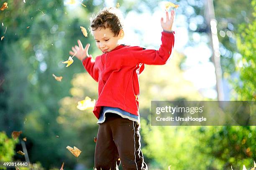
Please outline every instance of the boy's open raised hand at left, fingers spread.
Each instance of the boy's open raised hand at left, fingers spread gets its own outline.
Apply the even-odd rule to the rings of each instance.
[[[75,45],[72,47],[72,51],[69,51],[70,55],[75,55],[79,60],[84,60],[86,57],[89,57],[88,49],[90,47],[90,44],[87,44],[85,48],[82,45],[82,42],[80,40],[77,40],[78,45]]]

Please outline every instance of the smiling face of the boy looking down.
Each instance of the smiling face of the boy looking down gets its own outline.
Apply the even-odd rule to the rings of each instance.
[[[118,40],[121,39],[120,32],[118,36],[114,36],[110,28],[106,28],[106,29],[97,28],[97,30],[92,31],[92,34],[96,41],[97,47],[102,52],[110,52],[111,50],[114,50],[115,47],[119,45]]]

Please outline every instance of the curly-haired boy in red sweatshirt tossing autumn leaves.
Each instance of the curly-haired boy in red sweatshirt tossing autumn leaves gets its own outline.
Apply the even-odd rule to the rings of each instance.
[[[146,50],[119,45],[124,31],[115,10],[104,8],[91,18],[91,32],[102,55],[93,60],[88,54],[90,44],[83,48],[80,40],[69,53],[76,53],[87,72],[99,83],[99,97],[93,110],[99,124],[95,168],[118,170],[121,162],[123,170],[148,170],[140,143],[138,75],[144,70],[144,64],[164,65],[169,59],[174,46],[175,14],[172,10],[169,17],[166,11],[166,22],[161,18],[164,31],[159,50]]]

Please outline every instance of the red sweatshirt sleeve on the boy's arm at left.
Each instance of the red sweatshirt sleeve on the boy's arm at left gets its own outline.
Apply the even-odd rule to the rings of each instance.
[[[84,68],[92,76],[92,78],[96,82],[98,82],[98,80],[99,80],[99,72],[95,68],[95,60],[92,57],[86,57],[84,60],[82,60],[82,63],[84,65]]]

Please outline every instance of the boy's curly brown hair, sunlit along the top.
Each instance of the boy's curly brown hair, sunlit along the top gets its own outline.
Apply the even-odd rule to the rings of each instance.
[[[121,22],[121,15],[118,14],[118,9],[113,7],[105,7],[96,16],[90,18],[91,33],[98,28],[110,28],[114,36],[118,36],[121,29],[123,29],[123,23]]]

